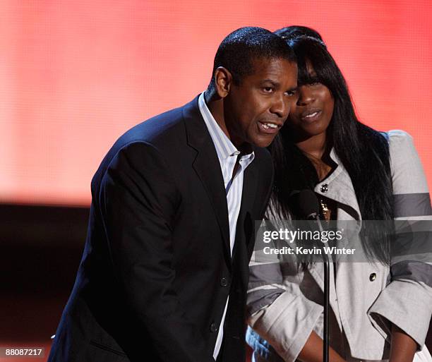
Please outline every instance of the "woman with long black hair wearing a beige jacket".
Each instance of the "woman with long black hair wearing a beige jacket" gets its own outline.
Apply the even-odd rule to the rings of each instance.
[[[340,69],[315,30],[276,32],[298,58],[299,99],[272,144],[275,187],[268,219],[302,219],[290,196],[311,189],[325,220],[432,219],[412,138],[356,119]],[[330,361],[430,361],[424,346],[432,266],[390,264],[380,229],[361,240],[370,263],[330,268]],[[255,361],[320,361],[323,264],[262,263],[254,255],[247,342]]]

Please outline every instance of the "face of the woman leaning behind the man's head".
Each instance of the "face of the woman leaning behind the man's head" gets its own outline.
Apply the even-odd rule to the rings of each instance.
[[[315,71],[308,64],[308,73]],[[333,115],[335,100],[330,90],[322,83],[309,83],[299,86],[299,100],[289,112],[286,126],[294,131],[294,138],[307,139],[325,134]]]

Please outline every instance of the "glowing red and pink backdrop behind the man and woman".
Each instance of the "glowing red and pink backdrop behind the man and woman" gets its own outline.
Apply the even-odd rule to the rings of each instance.
[[[321,32],[361,120],[411,133],[432,186],[431,4],[2,0],[0,202],[88,205],[116,138],[202,92],[245,25]]]

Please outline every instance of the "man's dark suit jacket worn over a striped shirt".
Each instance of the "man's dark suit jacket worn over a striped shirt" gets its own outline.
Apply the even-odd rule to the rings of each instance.
[[[254,220],[272,183],[267,150],[244,174],[233,256],[227,198],[198,97],[126,132],[92,179],[88,236],[51,362],[244,361]]]

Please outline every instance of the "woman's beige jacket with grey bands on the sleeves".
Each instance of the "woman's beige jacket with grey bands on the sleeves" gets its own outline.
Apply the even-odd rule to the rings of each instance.
[[[432,220],[428,186],[412,137],[389,131],[388,138],[396,218]],[[315,191],[357,214],[353,217],[343,210],[347,207],[338,208],[337,219],[361,219],[352,181],[334,151],[330,156],[338,166]],[[322,336],[323,264],[299,272],[295,264],[257,263],[253,255],[250,272],[248,324],[284,361],[292,362],[312,330]],[[388,358],[390,322],[423,346],[432,312],[432,265],[409,261],[391,268],[378,263],[332,265],[330,306],[333,334],[340,335],[339,341],[333,335],[330,343],[344,349],[345,358]]]

